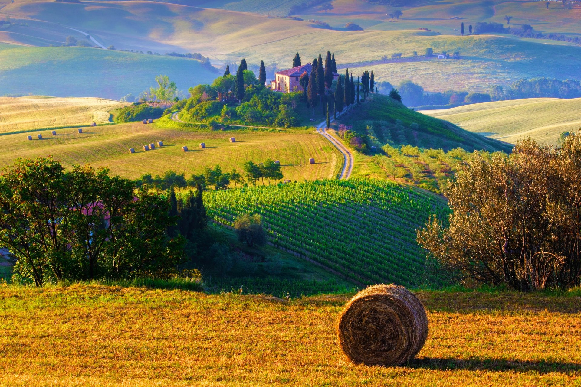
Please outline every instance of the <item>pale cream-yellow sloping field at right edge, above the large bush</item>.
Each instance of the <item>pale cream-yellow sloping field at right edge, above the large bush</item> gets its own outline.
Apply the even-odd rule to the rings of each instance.
[[[555,144],[562,132],[581,126],[581,99],[498,101],[423,113],[505,142],[516,143],[530,136]]]

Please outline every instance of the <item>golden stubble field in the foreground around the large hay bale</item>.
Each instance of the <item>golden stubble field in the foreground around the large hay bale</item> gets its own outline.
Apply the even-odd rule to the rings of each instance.
[[[579,386],[579,297],[418,292],[430,332],[403,367],[350,364],[348,295],[284,301],[96,285],[0,289],[10,386]]]

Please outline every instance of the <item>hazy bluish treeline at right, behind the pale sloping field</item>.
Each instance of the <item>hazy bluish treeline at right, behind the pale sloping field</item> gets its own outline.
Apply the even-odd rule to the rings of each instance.
[[[394,88],[389,82],[378,82],[378,92],[389,94]],[[446,108],[463,104],[482,103],[524,98],[579,98],[581,97],[581,82],[574,79],[533,78],[521,79],[508,86],[493,86],[487,92],[444,91],[426,93],[422,86],[409,80],[402,81],[397,90],[401,95],[401,102],[406,106],[425,108]]]

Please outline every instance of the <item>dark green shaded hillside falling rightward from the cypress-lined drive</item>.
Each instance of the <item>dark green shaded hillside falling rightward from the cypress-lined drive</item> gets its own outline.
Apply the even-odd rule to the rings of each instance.
[[[467,151],[510,151],[512,146],[486,138],[448,121],[418,113],[385,95],[371,98],[354,108],[338,120],[340,124],[352,125],[353,130],[372,135],[378,146],[406,144],[426,149],[445,151],[462,148]]]

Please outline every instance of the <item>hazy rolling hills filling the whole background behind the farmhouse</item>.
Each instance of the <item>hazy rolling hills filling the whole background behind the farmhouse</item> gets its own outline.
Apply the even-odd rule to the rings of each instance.
[[[15,48],[10,52],[10,61],[8,57],[0,59],[0,64],[8,67],[2,74],[5,82],[0,93],[46,93],[40,84],[31,82],[19,88],[9,82],[16,77],[26,78],[23,74],[35,71],[33,57],[46,56],[46,52],[40,49],[20,48],[19,51],[16,48],[21,45],[62,45],[69,35],[94,45],[95,42],[85,33],[99,45],[114,45],[118,50],[162,54],[199,52],[210,57],[218,67],[239,62],[245,57],[256,70],[260,60],[271,69],[288,68],[294,52],[298,51],[304,59],[310,60],[331,50],[340,68],[361,66],[374,70],[376,81],[393,83],[399,79],[411,79],[424,86],[426,91],[485,91],[492,85],[506,85],[533,77],[579,79],[576,70],[581,65],[580,46],[506,34],[462,37],[459,32],[462,22],[466,24],[465,28],[479,21],[501,23],[504,15],[510,14],[513,16],[512,28],[520,28],[526,23],[535,31],[575,37],[581,28],[578,17],[581,8],[576,4],[569,9],[555,3],[547,10],[544,2],[418,1],[418,6],[400,8],[403,16],[399,19],[391,19],[388,15],[394,9],[391,6],[363,0],[336,0],[331,2],[334,8],[326,13],[317,7],[306,8],[293,15],[303,20],[292,20],[279,16],[287,15],[290,7],[300,4],[300,1],[267,2],[266,5],[254,0],[177,2],[15,0],[14,3],[5,3],[0,9],[0,20],[9,16],[12,24],[0,27],[0,41],[15,45]],[[328,23],[330,28],[309,20]],[[348,31],[346,23],[355,23],[364,31]],[[418,28],[431,31],[419,31]],[[433,48],[436,53],[444,50],[459,52],[461,59],[426,60],[422,57],[426,48]],[[63,55],[74,56],[66,54],[69,50],[74,48],[62,48]],[[418,57],[413,57],[414,51]],[[392,53],[401,53],[403,59],[390,60]],[[123,56],[123,60],[114,60],[109,53],[87,55],[96,57],[96,67],[105,67],[111,60],[110,67],[117,70],[112,74],[103,71],[96,74],[99,79],[107,79],[110,75],[108,79],[119,83],[115,91],[98,95],[101,97],[119,98],[128,92],[135,94],[137,84],[145,89],[155,68],[159,68],[158,73],[171,75],[170,78],[184,90],[207,82],[208,78],[203,69],[189,71],[187,64],[181,62],[164,62],[137,54],[135,57]],[[382,59],[384,56],[388,59]],[[160,62],[148,63],[155,60]],[[8,62],[20,64],[10,66]],[[62,63],[66,65],[68,60],[63,59]],[[71,62],[71,68],[75,67],[77,65]],[[136,85],[123,84],[123,74],[130,72],[134,74]],[[60,77],[64,77],[64,73],[51,74],[55,84],[62,83]],[[73,73],[73,79],[76,79],[76,84],[91,84],[88,73]],[[74,88],[69,93],[64,87],[56,90],[58,92],[53,94],[58,96],[87,96]]]

